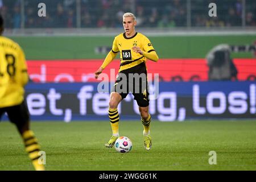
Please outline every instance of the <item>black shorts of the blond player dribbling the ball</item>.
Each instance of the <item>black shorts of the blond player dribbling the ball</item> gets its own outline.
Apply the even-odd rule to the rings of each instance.
[[[149,105],[149,93],[145,63],[119,72],[111,92],[119,93],[122,99],[131,92],[139,106],[147,107]]]

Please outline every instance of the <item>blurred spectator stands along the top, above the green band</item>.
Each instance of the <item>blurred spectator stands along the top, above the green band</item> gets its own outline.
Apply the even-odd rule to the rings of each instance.
[[[46,18],[35,16],[40,2]],[[218,18],[208,15],[209,3],[217,3]],[[253,0],[1,0],[7,28],[120,28],[122,15],[137,15],[138,27],[253,27]]]

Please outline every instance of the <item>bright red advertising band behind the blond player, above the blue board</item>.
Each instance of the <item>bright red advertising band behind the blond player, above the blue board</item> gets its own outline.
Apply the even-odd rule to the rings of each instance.
[[[40,82],[94,82],[94,72],[102,64],[101,59],[95,60],[28,60],[28,73],[33,81]],[[246,80],[256,75],[256,59],[234,59],[238,70],[238,80]],[[160,59],[157,63],[148,60],[148,73],[159,73],[163,81],[207,81],[208,66],[205,59]],[[109,80],[115,80],[118,73],[119,60],[104,69]],[[111,74],[110,74],[111,72]],[[109,81],[106,80],[106,81]],[[150,77],[148,78],[150,80]]]

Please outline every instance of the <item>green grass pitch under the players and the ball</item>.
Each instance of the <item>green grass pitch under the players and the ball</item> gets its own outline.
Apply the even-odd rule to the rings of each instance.
[[[46,152],[47,170],[256,170],[256,120],[151,122],[152,148],[143,146],[142,123],[119,122],[129,137],[126,154],[105,148],[109,122],[32,122]],[[10,122],[0,123],[0,170],[34,170]],[[210,165],[209,151],[217,164]]]

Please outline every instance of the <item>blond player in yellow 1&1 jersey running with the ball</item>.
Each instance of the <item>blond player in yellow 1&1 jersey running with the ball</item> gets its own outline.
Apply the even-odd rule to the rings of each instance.
[[[119,137],[118,122],[119,115],[117,106],[127,96],[129,92],[133,93],[134,100],[137,101],[139,112],[141,113],[141,121],[144,127],[144,146],[146,150],[151,148],[150,122],[151,116],[148,113],[148,85],[147,85],[147,69],[146,59],[158,61],[158,55],[155,52],[150,40],[143,34],[135,31],[136,17],[132,13],[123,14],[123,28],[125,32],[115,36],[112,50],[106,56],[101,67],[94,73],[95,78],[106,68],[106,66],[120,52],[121,64],[117,80],[110,94],[109,101],[109,119],[112,126],[113,135],[106,147],[113,147],[115,140]],[[139,80],[130,77],[131,75],[139,75]],[[126,76],[126,78],[124,77]],[[144,76],[144,77],[143,77]],[[126,80],[126,81],[125,81]],[[126,83],[123,84],[123,83]],[[122,84],[121,84],[122,83]],[[146,84],[145,84],[146,83]],[[132,88],[132,89],[130,89]],[[139,92],[136,89],[139,88]]]

